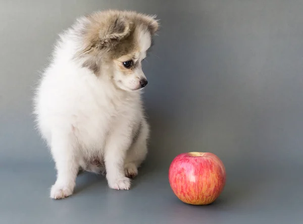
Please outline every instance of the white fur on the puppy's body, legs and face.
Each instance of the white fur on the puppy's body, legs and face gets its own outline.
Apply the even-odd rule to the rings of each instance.
[[[76,26],[84,20],[79,20]],[[144,118],[141,91],[117,88],[110,76],[96,76],[74,60],[80,48],[75,30],[77,27],[61,35],[34,98],[37,128],[56,163],[57,181],[51,190],[55,199],[73,194],[80,168],[103,172],[91,163],[94,158],[104,158],[110,188],[129,189],[131,181],[126,175],[137,175],[147,153],[149,127]],[[143,38],[138,60],[141,61],[150,37],[140,35]],[[102,66],[103,74],[116,72],[111,65]],[[145,77],[141,66],[136,76]],[[132,143],[133,132],[140,124],[140,134]]]

